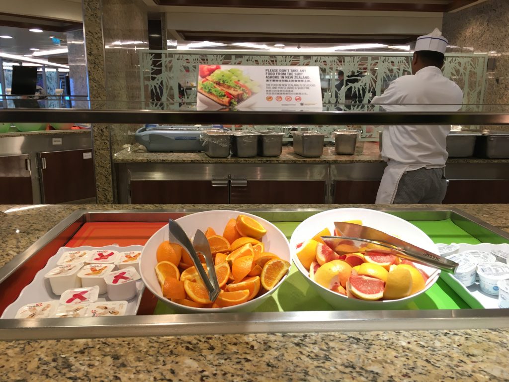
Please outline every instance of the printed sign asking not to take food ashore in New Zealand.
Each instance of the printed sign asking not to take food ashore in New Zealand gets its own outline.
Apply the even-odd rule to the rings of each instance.
[[[317,66],[200,65],[198,110],[322,110]]]

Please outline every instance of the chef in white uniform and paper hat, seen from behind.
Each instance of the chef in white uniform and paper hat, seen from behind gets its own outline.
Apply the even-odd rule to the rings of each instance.
[[[412,75],[392,81],[372,104],[389,112],[455,112],[463,92],[441,68],[447,40],[438,29],[415,44]],[[376,203],[442,203],[447,189],[445,139],[450,126],[386,126],[382,158],[387,162]]]

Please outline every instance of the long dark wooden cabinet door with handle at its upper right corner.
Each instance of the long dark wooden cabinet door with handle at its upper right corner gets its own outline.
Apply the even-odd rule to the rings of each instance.
[[[132,204],[228,204],[228,181],[131,180]]]

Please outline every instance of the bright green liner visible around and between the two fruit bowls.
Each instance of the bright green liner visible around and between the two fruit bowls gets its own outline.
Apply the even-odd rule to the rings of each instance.
[[[426,232],[435,243],[449,244],[451,242],[478,244],[480,241],[458,227],[450,219],[440,221],[410,221],[413,225]],[[300,222],[276,222],[273,223],[288,239]],[[413,299],[403,309],[426,310],[426,309],[483,309],[483,306],[470,295],[460,297],[451,289],[442,278]],[[335,310],[309,286],[305,277],[299,272],[295,264],[290,268],[290,275],[283,284],[257,309],[255,312],[292,312],[292,311],[328,311]],[[154,314],[173,314],[172,308],[160,301],[157,303]]]

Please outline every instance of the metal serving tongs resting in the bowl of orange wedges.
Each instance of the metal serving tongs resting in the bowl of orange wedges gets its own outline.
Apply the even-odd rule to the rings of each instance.
[[[221,289],[219,288],[219,283],[217,282],[214,260],[212,259],[212,255],[210,253],[210,244],[205,234],[200,230],[196,230],[193,242],[191,244],[191,241],[187,237],[185,231],[173,219],[170,219],[168,221],[168,231],[169,231],[169,241],[182,245],[182,247],[187,252],[189,252],[194,267],[198,271],[200,277],[203,280],[203,283],[205,284],[205,287],[209,291],[210,301],[212,302],[215,301]],[[200,252],[205,257],[207,271],[205,271],[205,269],[203,268],[202,262],[200,261],[200,258],[198,257],[196,251]]]

